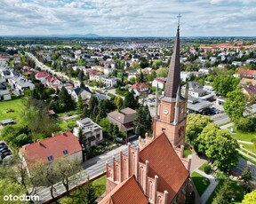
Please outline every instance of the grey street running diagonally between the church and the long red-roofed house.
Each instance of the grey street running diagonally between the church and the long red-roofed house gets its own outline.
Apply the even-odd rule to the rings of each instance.
[[[138,140],[131,142],[131,144],[132,146],[138,145]],[[88,161],[84,161],[82,164],[84,169],[74,176],[76,177],[75,181],[70,183],[69,189],[72,189],[76,185],[83,184],[85,181],[87,181],[87,177],[92,178],[102,174],[106,170],[107,162],[112,165],[113,156],[115,156],[117,161],[120,159],[121,151],[123,153],[127,153],[127,145],[121,145],[108,153],[103,153]],[[54,192],[54,196],[58,196],[66,192],[66,189],[61,182],[54,184],[54,188],[56,190]],[[47,200],[52,200],[49,187],[38,187],[36,189],[36,195],[39,195],[40,197],[40,201],[38,203],[44,203]]]

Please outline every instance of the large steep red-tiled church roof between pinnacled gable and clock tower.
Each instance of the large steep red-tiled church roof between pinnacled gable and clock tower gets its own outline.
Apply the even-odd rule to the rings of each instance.
[[[148,176],[158,176],[157,190],[169,192],[167,203],[171,203],[189,177],[189,172],[164,132],[140,151],[140,161],[145,163],[147,160],[149,161]]]

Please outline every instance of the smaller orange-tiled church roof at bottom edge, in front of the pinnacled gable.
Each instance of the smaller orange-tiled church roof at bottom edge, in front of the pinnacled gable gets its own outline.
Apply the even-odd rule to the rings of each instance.
[[[121,184],[109,192],[99,204],[148,204],[140,185],[136,182],[135,176],[125,179]]]

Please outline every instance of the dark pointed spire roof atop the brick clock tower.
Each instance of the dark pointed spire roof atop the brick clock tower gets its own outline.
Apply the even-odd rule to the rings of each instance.
[[[179,86],[180,86],[180,25],[178,26],[178,29],[177,29],[174,49],[172,53],[172,60],[169,67],[169,73],[168,73],[165,88],[164,88],[164,96],[170,97],[170,98],[176,98]]]

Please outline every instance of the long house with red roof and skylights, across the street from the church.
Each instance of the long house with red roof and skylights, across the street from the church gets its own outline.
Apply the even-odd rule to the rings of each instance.
[[[37,162],[50,164],[61,158],[83,161],[82,147],[77,137],[71,132],[52,135],[44,140],[23,145],[20,148],[20,157],[28,172]]]

